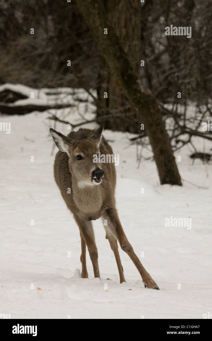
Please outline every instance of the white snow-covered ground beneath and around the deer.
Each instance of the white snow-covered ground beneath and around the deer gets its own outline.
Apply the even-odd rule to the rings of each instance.
[[[57,113],[66,117],[67,109]],[[138,271],[120,248],[127,283],[119,284],[100,219],[93,225],[101,281],[94,279],[88,252],[89,279],[81,279],[79,230],[54,182],[57,148],[51,156],[49,124],[54,127],[54,122],[46,120],[48,116],[34,112],[0,117],[1,122],[11,122],[10,134],[0,132],[0,313],[11,314],[11,318],[119,319],[202,318],[212,313],[212,165],[196,160],[192,166],[191,152],[184,147],[175,154],[181,156],[182,178],[208,189],[187,182],[182,188],[160,186],[154,162],[142,160],[137,169],[136,147],[128,139],[133,135],[105,130],[105,138],[119,154],[119,218],[160,291],[144,288]],[[66,119],[76,122],[80,116],[72,109]],[[61,123],[56,130],[69,132]],[[196,139],[196,147],[203,151],[201,139]],[[205,142],[205,152],[211,147]],[[147,156],[148,151],[143,154]],[[166,227],[165,219],[171,216],[191,218],[191,228]]]

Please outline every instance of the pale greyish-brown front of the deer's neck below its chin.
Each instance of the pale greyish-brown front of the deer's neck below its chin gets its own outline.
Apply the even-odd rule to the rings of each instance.
[[[80,211],[90,214],[100,210],[103,202],[100,186],[80,184],[72,177],[73,198]]]

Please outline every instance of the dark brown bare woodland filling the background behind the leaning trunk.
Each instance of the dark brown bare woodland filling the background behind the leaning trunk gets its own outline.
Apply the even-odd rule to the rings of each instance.
[[[178,91],[184,101],[202,104],[211,97],[210,0],[147,0],[143,4],[107,0],[102,4],[137,76],[158,100],[173,103]],[[1,84],[86,86],[99,94],[103,87],[118,97],[113,76],[74,0],[1,0],[0,12]],[[165,26],[171,24],[191,26],[192,38],[165,36]],[[140,60],[145,61],[144,67]],[[113,105],[108,102],[105,106],[115,107],[114,99]]]

